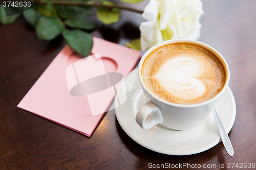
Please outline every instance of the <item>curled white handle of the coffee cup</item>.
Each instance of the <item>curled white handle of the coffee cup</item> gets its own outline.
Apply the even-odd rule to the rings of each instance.
[[[143,129],[150,129],[157,124],[162,124],[162,111],[153,103],[147,102],[144,106],[142,106],[139,109],[136,115],[136,122]]]

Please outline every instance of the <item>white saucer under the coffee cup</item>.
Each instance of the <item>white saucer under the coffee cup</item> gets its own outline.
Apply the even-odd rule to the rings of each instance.
[[[147,101],[144,99],[137,72],[136,68],[124,79],[127,100],[121,106],[115,107],[120,126],[133,140],[147,149],[168,155],[200,153],[214,147],[221,141],[213,114],[206,123],[191,130],[176,131],[161,125],[147,130],[142,129],[136,123],[135,116],[138,109]],[[124,88],[123,86],[119,87],[120,91]],[[116,100],[114,104],[117,106]],[[236,118],[236,102],[229,87],[221,96],[217,109],[226,131],[229,132]]]

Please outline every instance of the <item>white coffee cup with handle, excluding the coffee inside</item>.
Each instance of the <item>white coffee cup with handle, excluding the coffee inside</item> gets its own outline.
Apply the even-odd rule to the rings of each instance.
[[[145,86],[141,76],[141,69],[142,69],[142,64],[146,59],[146,57],[159,46],[162,46],[165,44],[177,43],[177,42],[191,42],[191,43],[203,46],[207,50],[215,54],[215,56],[218,57],[220,62],[222,62],[222,64],[224,65],[225,83],[222,90],[216,96],[214,96],[214,98],[211,98],[208,101],[198,103],[198,104],[190,104],[190,105],[175,104],[175,103],[170,103],[163,99],[158,98]],[[142,56],[140,60],[138,75],[139,75],[139,81],[142,85],[142,89],[146,98],[151,99],[150,102],[147,102],[144,106],[142,106],[139,109],[136,115],[136,122],[143,129],[150,129],[157,124],[161,124],[167,128],[174,129],[174,130],[188,130],[188,129],[193,129],[202,125],[209,118],[210,114],[212,114],[212,111],[216,107],[220,96],[226,90],[229,83],[229,79],[230,79],[230,72],[229,72],[227,62],[218,51],[216,51],[214,48],[212,48],[211,46],[203,42],[186,40],[186,39],[167,40],[151,47]]]

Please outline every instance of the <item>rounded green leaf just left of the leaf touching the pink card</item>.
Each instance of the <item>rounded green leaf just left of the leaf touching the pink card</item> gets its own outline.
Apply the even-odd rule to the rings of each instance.
[[[59,18],[42,16],[37,21],[35,30],[39,39],[51,40],[57,37],[64,26]]]

